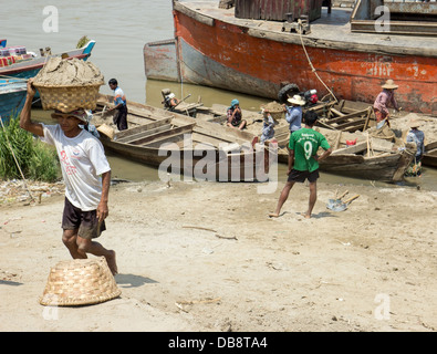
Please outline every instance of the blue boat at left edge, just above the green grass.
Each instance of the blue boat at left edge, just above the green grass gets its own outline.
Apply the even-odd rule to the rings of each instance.
[[[0,79],[0,117],[7,124],[11,116],[20,114],[24,106],[27,82]]]

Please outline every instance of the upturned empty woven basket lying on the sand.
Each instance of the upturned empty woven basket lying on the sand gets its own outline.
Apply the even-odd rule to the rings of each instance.
[[[119,296],[106,259],[75,259],[59,262],[50,270],[40,303],[48,306],[79,306]]]

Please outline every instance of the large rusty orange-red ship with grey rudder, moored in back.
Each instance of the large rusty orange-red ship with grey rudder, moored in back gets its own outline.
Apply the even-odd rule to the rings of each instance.
[[[173,0],[175,38],[145,44],[146,75],[273,100],[289,82],[366,103],[392,79],[405,111],[437,115],[436,2],[384,2],[389,31],[372,32],[381,18],[370,13],[376,6],[370,1],[326,11],[310,0],[236,0],[229,9]],[[320,13],[305,25],[302,11],[294,11],[302,3]],[[406,20],[397,20],[399,13]]]

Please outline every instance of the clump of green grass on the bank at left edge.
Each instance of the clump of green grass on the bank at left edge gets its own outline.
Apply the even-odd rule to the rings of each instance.
[[[55,149],[34,139],[20,128],[19,118],[11,117],[4,128],[0,125],[0,179],[21,179],[20,169],[25,179],[52,183],[61,177]]]

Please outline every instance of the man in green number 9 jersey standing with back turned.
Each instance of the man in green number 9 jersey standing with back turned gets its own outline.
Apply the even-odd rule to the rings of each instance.
[[[318,199],[319,162],[326,158],[332,153],[332,148],[323,134],[313,129],[318,114],[313,111],[306,111],[303,119],[305,127],[290,136],[288,146],[289,170],[287,171],[289,178],[279,197],[277,209],[274,212],[269,214],[271,218],[279,217],[282,206],[296,181],[303,183],[308,179],[310,183],[310,200],[308,210],[304,214],[305,218],[311,218],[311,212]],[[318,156],[319,147],[324,149],[321,156]]]

